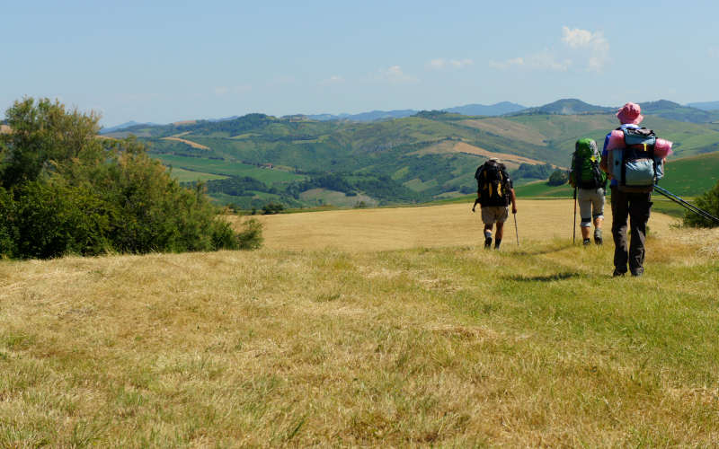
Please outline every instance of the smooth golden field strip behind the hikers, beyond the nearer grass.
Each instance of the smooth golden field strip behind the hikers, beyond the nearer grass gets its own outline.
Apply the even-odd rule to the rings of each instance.
[[[505,225],[502,249],[522,244],[564,239],[572,241],[573,200],[519,199],[517,216]],[[484,242],[480,207],[472,204],[432,207],[396,207],[367,210],[333,210],[311,214],[259,216],[265,225],[265,246],[271,249],[339,251],[387,251],[410,248],[441,248]],[[577,212],[579,214],[579,211]],[[611,207],[605,207],[607,239],[610,241]],[[235,218],[235,220],[238,218]],[[579,219],[579,216],[577,216]],[[514,221],[517,226],[515,230]],[[653,214],[651,232],[671,233],[679,220]],[[579,224],[577,239],[581,240]],[[609,242],[611,243],[611,242]]]

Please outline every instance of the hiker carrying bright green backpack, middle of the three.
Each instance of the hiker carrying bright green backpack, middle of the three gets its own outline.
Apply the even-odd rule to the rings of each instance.
[[[569,183],[574,188],[575,198],[579,202],[581,239],[584,246],[591,244],[592,222],[594,223],[594,242],[598,245],[602,244],[601,225],[604,222],[607,175],[599,169],[600,159],[597,142],[593,139],[581,138],[574,144]],[[574,213],[576,214],[576,208]]]

